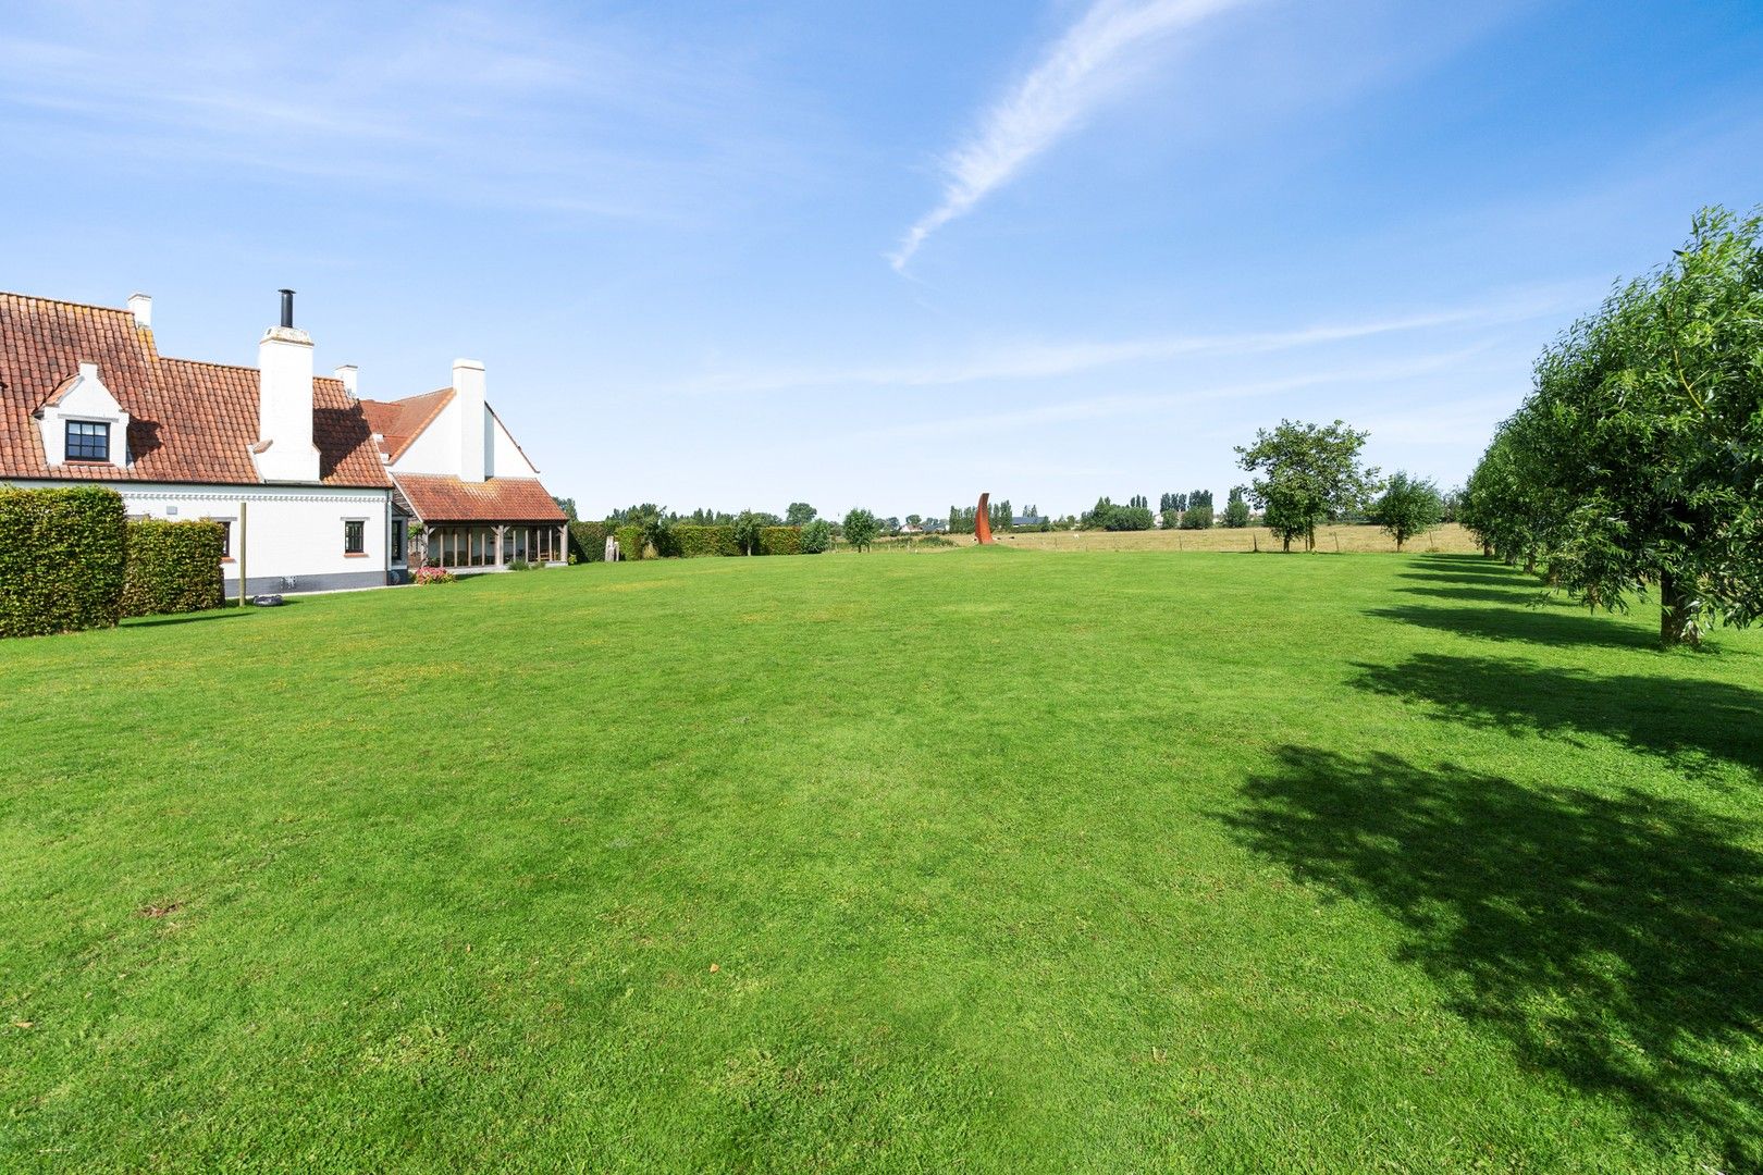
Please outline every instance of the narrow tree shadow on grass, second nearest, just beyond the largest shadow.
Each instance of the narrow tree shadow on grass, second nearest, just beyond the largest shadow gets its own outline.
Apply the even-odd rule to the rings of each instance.
[[[1763,694],[1724,682],[1596,676],[1502,657],[1416,654],[1356,666],[1356,689],[1444,717],[1548,736],[1599,735],[1655,754],[1687,775],[1731,763],[1763,779]]]

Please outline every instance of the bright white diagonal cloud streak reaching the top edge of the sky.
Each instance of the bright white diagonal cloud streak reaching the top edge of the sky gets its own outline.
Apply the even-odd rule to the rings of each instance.
[[[1098,0],[1010,92],[980,118],[977,132],[943,160],[941,203],[913,224],[889,255],[894,270],[931,233],[966,215],[1015,178],[1079,120],[1120,92],[1146,53],[1174,33],[1250,0]]]

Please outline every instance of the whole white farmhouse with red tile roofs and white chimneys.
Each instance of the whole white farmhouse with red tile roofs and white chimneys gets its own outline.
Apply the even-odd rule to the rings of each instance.
[[[414,546],[448,565],[564,560],[564,514],[485,402],[481,363],[361,402],[354,366],[312,373],[291,291],[256,368],[160,356],[152,312],[145,294],[0,294],[0,481],[95,481],[136,516],[219,521],[229,594],[240,562],[249,594],[402,583],[425,527]]]

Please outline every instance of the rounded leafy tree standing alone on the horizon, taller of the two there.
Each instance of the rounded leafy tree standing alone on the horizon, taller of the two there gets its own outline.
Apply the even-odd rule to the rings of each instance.
[[[1315,550],[1319,523],[1361,509],[1375,491],[1377,469],[1359,463],[1368,435],[1345,421],[1280,421],[1273,432],[1255,430],[1255,444],[1236,447],[1238,465],[1261,474],[1248,491],[1285,550],[1292,550],[1294,539]]]

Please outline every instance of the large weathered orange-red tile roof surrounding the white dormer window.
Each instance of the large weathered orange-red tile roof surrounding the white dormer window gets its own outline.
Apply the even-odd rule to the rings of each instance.
[[[32,412],[60,391],[81,363],[129,414],[127,469],[49,467]],[[342,382],[312,381],[312,442],[319,479],[333,486],[390,486],[372,428]],[[185,481],[259,484],[257,370],[164,359],[153,331],[127,310],[0,292],[0,477]]]

